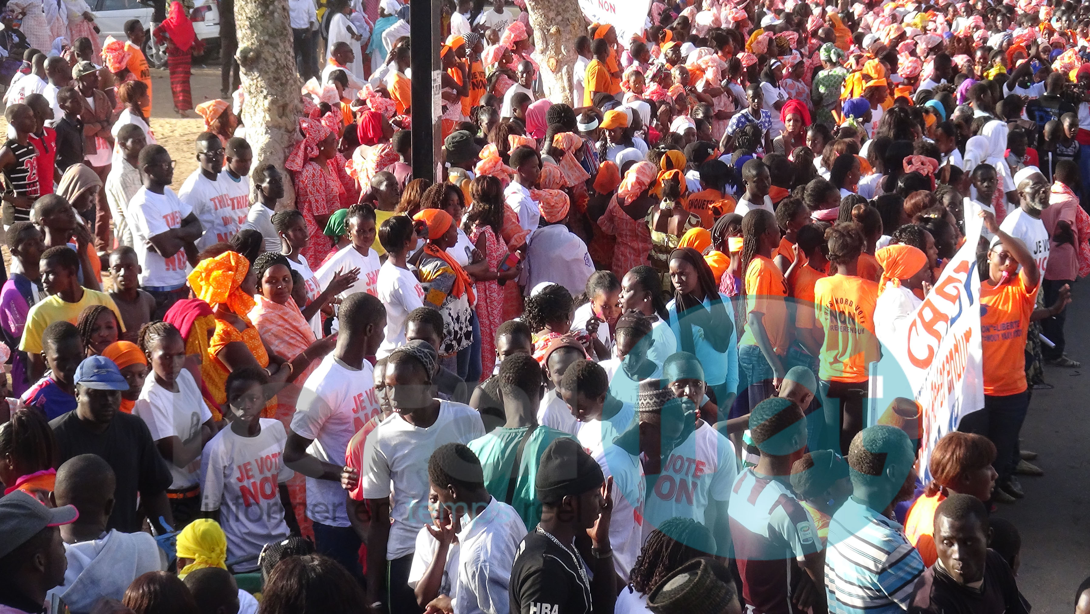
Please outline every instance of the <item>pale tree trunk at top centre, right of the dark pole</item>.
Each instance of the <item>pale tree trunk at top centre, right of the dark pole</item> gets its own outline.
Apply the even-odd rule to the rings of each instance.
[[[576,38],[586,34],[586,23],[579,0],[526,0],[530,25],[534,28],[534,51],[541,64],[545,96],[554,103],[572,107],[571,75],[576,65]]]

